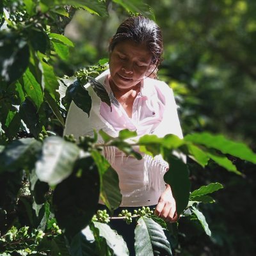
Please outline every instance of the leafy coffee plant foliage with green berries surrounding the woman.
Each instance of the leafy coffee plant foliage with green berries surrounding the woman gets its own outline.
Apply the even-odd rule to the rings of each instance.
[[[151,15],[145,4],[113,2],[129,12]],[[102,144],[97,143],[97,132],[93,138],[79,140],[72,134],[60,137],[72,100],[89,115],[91,101],[84,89],[88,81],[103,101],[110,102],[93,79],[107,68],[106,60],[72,76],[58,77],[55,69],[56,63],[68,63],[70,47],[74,47],[63,35],[74,10],[83,8],[106,17],[106,6],[105,1],[97,0],[4,0],[0,6],[3,255],[128,255],[124,239],[106,224],[107,213],[97,212],[99,198],[110,212],[122,200],[118,176],[101,154],[104,147],[117,147],[137,159],[141,159],[141,154],[134,151],[134,145],[151,156],[162,154],[174,166],[164,180],[172,187],[179,223],[199,223],[200,230],[208,236],[211,231],[198,205],[214,202],[209,194],[223,186],[215,182],[190,193],[190,166],[177,154],[184,154],[203,167],[219,164],[238,175],[241,172],[230,156],[256,161],[255,154],[243,143],[209,132],[189,134],[183,140],[172,134],[164,138],[147,135],[136,140],[136,132],[120,131],[113,138],[99,131],[104,139]],[[95,212],[98,216],[94,216]],[[137,253],[172,255],[177,250],[177,225],[167,225],[145,207],[134,214],[124,211],[120,218],[129,223],[134,215],[139,218],[135,230]]]

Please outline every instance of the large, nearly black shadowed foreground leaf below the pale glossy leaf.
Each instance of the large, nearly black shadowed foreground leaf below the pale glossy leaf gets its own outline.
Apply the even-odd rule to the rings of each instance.
[[[76,161],[72,175],[56,186],[52,198],[54,214],[68,239],[90,223],[99,193],[99,172],[90,156]]]

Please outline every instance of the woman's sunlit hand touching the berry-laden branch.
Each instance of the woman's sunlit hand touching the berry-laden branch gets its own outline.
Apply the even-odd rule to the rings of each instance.
[[[175,222],[178,220],[176,202],[169,184],[166,185],[166,189],[160,196],[154,214],[164,221]]]

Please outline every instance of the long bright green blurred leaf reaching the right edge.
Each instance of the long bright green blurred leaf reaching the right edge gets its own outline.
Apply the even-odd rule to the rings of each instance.
[[[189,134],[184,138],[196,144],[220,150],[223,154],[230,154],[240,159],[256,163],[256,154],[244,143],[228,140],[223,135],[214,135],[207,132]]]

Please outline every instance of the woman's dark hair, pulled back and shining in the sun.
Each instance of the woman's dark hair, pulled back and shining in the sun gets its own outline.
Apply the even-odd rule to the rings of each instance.
[[[161,63],[163,53],[162,32],[153,20],[141,15],[124,20],[109,44],[109,51],[113,51],[116,44],[124,40],[132,40],[138,44],[147,45],[148,50],[153,55],[152,63],[156,67]]]

